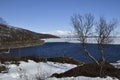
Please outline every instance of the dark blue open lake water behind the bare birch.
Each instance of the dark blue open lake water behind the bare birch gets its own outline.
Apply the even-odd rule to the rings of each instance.
[[[96,44],[88,44],[88,50],[93,56],[99,58],[99,51]],[[59,57],[69,56],[80,61],[90,62],[91,59],[84,54],[80,43],[67,42],[48,42],[43,45],[12,49],[12,57],[20,56],[41,56],[41,57]],[[120,45],[106,45],[105,57],[109,62],[120,60]]]

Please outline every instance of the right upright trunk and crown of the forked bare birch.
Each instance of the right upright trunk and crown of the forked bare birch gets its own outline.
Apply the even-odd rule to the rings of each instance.
[[[97,23],[95,30],[97,33],[98,49],[100,50],[100,60],[103,62],[105,61],[105,44],[109,44],[113,41],[112,32],[115,30],[116,24],[117,22],[115,20],[107,22],[104,17],[100,17],[100,20]]]

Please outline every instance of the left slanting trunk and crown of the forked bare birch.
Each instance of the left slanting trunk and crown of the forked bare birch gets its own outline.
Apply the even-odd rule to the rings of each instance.
[[[91,14],[85,14],[84,16],[74,15],[72,16],[71,21],[75,34],[81,42],[84,52],[99,65],[98,60],[93,57],[87,49],[87,37],[92,34],[91,32],[94,25],[94,16]]]

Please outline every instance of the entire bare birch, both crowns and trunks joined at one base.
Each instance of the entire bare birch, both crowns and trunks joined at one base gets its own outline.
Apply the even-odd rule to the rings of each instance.
[[[111,20],[107,22],[104,17],[100,17],[99,21],[94,24],[94,16],[91,14],[74,15],[71,18],[73,28],[78,40],[81,42],[84,52],[95,61],[100,67],[100,76],[104,76],[103,66],[105,65],[105,45],[113,41],[112,32],[116,28],[117,22]],[[94,26],[94,27],[93,27]],[[100,51],[100,61],[91,55],[87,49],[88,38],[91,36],[92,29],[95,28],[96,31],[96,40],[98,44],[98,50]]]

